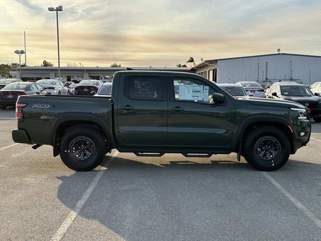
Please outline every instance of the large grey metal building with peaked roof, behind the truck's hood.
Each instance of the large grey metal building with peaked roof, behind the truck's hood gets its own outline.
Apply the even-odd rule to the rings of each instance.
[[[321,81],[321,56],[279,53],[212,59],[190,71],[217,83],[257,81],[265,87],[277,81],[312,84]]]

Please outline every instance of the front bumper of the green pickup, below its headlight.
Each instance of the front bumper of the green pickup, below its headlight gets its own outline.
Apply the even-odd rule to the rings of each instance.
[[[304,133],[304,135],[301,136],[301,133]],[[310,135],[310,121],[308,119],[299,119],[296,130],[293,130],[293,149],[291,154],[294,154],[300,147],[306,146],[310,140]]]

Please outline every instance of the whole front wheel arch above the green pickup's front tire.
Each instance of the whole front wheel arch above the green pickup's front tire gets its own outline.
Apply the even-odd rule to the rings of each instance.
[[[241,124],[239,125],[236,134],[237,139],[235,150],[240,150],[240,145],[242,145],[242,140],[244,139],[244,136],[251,130],[259,126],[273,126],[283,131],[283,133],[287,136],[290,142],[291,152],[293,151],[293,125],[291,124],[289,119],[283,116],[273,114],[255,114],[244,118]]]

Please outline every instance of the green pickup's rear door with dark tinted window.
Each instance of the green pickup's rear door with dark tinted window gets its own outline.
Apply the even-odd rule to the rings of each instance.
[[[161,146],[167,136],[167,92],[162,76],[121,75],[118,88],[118,134],[122,145]]]

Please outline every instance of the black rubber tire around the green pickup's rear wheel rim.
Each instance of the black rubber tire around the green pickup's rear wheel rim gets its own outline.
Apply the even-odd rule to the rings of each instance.
[[[86,139],[92,141],[94,146],[94,151],[91,156],[86,160],[75,161],[75,156],[72,154],[72,145],[77,139]],[[96,168],[103,160],[106,154],[106,143],[103,136],[96,129],[85,127],[85,126],[75,126],[69,128],[60,143],[59,155],[63,163],[72,170],[75,171],[89,171]]]

